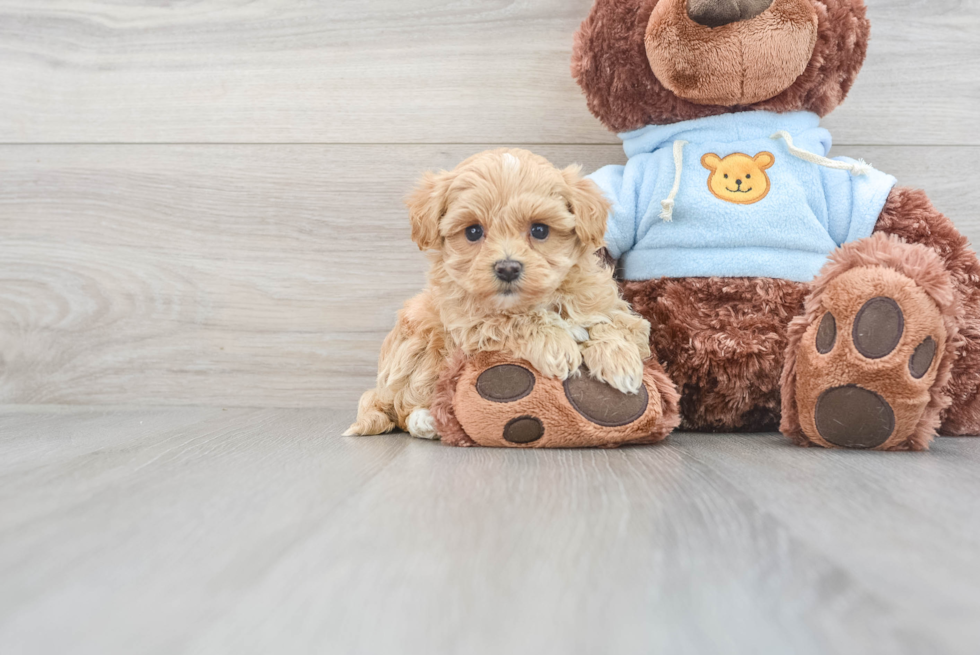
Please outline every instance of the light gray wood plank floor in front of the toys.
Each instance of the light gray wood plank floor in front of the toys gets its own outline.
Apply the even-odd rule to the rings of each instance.
[[[617,451],[0,410],[0,652],[976,653],[980,439]]]

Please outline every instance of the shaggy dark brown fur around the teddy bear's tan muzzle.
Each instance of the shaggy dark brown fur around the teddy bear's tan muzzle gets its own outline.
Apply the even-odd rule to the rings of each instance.
[[[658,2],[675,1],[683,2],[596,0],[575,36],[572,74],[589,109],[613,131],[753,109],[808,110],[824,116],[843,102],[864,63],[870,25],[861,0],[808,0],[817,18],[816,42],[806,69],[789,88],[744,105],[685,100],[657,79],[646,46],[647,27]]]

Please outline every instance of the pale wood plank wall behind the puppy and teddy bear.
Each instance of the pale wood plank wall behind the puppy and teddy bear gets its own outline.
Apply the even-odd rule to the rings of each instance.
[[[0,403],[349,407],[423,170],[623,161],[568,72],[589,5],[0,0]],[[980,3],[869,5],[834,154],[980,241]]]

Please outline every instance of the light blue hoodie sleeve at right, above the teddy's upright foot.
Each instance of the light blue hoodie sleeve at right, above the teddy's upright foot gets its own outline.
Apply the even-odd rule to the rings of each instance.
[[[849,157],[834,161],[857,163]],[[822,168],[821,175],[827,193],[827,231],[834,243],[842,246],[871,236],[897,180],[871,167],[861,175]]]

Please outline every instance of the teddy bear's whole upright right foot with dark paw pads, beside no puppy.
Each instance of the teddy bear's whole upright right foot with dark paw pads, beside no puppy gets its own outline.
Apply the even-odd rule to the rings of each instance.
[[[781,428],[802,445],[922,450],[948,404],[951,283],[923,246],[865,242],[840,251],[790,327]]]

